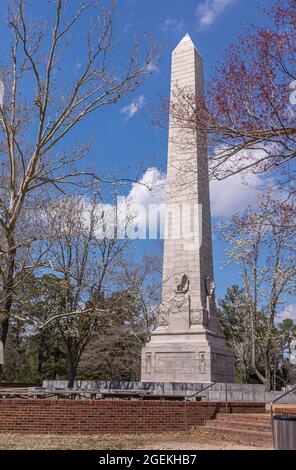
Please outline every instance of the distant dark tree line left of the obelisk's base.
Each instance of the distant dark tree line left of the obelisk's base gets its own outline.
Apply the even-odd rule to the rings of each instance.
[[[96,313],[69,317],[62,317],[69,295],[64,280],[53,274],[31,276],[15,312],[43,323],[52,311],[61,315],[44,329],[11,320],[2,381],[67,379],[72,387],[77,377],[139,380],[141,348],[155,324],[160,285],[154,259],[145,257],[141,272],[133,267],[133,286],[125,281],[124,290],[115,290],[114,284],[113,292],[94,290],[86,307],[95,306]]]

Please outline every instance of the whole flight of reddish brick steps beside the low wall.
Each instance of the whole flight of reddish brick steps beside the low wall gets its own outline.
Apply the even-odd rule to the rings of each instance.
[[[197,429],[236,442],[272,446],[270,415],[265,413],[218,413],[215,419]]]

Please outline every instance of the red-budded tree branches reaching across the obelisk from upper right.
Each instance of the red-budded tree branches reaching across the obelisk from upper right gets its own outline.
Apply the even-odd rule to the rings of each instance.
[[[251,27],[225,53],[206,96],[178,90],[176,125],[206,132],[213,176],[273,170],[291,182],[296,156],[296,0],[266,10],[268,26]]]

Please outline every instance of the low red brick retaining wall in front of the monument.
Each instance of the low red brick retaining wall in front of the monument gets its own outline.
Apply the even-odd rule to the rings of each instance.
[[[264,412],[260,403],[230,403],[231,412]],[[100,434],[184,431],[205,424],[223,403],[126,400],[0,399],[0,433]]]

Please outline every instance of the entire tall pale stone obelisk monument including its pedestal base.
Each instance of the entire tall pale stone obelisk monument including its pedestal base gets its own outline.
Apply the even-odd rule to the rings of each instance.
[[[206,138],[182,118],[204,93],[202,58],[188,34],[173,51],[171,74],[162,304],[141,380],[233,382],[214,298]]]

